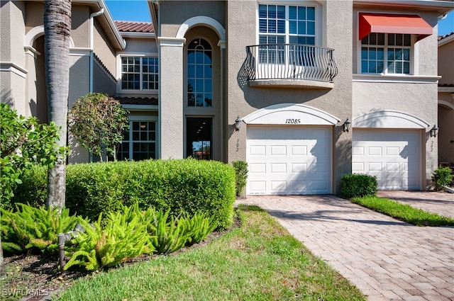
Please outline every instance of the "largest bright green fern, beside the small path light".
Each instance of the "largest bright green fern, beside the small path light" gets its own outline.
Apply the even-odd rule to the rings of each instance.
[[[140,211],[133,206],[123,210],[125,214],[123,211],[111,212],[104,221],[99,215],[93,225],[84,222],[82,226],[86,232],[75,237],[72,240],[74,246],[67,249],[71,259],[65,270],[83,266],[87,271],[96,271],[155,251]]]

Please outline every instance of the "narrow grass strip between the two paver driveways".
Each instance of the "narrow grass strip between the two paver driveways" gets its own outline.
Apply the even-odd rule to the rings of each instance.
[[[409,224],[416,226],[454,226],[454,220],[435,213],[430,213],[410,205],[399,203],[388,198],[377,196],[366,196],[362,198],[352,198],[351,201],[363,207],[389,215]]]

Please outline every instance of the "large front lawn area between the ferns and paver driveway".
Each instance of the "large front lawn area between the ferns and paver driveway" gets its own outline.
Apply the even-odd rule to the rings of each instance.
[[[366,300],[256,206],[205,246],[77,280],[58,300]]]

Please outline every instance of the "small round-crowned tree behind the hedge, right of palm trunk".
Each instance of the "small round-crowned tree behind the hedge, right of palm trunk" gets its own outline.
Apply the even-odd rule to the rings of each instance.
[[[116,147],[128,129],[128,111],[114,98],[89,93],[77,100],[69,114],[70,131],[77,141],[101,161],[116,160]]]

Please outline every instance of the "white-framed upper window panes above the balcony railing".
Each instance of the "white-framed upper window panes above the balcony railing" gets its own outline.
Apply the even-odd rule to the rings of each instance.
[[[259,4],[259,44],[315,45],[314,6]]]

